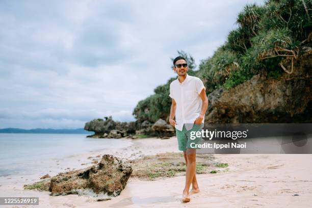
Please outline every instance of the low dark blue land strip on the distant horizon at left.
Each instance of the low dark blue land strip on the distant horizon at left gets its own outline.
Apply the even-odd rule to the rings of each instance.
[[[90,134],[83,128],[76,129],[53,129],[53,128],[0,128],[0,133],[14,133],[14,134]]]

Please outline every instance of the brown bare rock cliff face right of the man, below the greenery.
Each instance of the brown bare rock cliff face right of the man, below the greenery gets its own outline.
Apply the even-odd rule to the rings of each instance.
[[[206,123],[311,122],[312,48],[304,47],[292,74],[278,79],[255,75],[230,90],[218,89],[208,97]],[[284,65],[290,70],[291,62]]]

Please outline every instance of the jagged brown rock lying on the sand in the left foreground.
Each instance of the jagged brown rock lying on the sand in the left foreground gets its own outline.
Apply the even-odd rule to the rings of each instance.
[[[93,197],[117,196],[126,186],[132,168],[113,157],[103,155],[101,161],[89,168],[60,173],[28,187],[48,187],[50,195],[89,195]],[[39,188],[40,188],[39,187]]]

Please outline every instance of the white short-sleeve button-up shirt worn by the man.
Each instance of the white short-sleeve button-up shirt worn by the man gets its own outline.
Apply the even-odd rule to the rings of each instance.
[[[200,115],[202,100],[199,94],[202,89],[206,89],[202,81],[198,77],[188,74],[183,83],[176,79],[170,84],[169,96],[176,102],[175,128],[179,131],[182,131],[184,124],[193,124]],[[202,123],[204,123],[204,119]],[[187,130],[192,127],[193,125],[186,125]]]

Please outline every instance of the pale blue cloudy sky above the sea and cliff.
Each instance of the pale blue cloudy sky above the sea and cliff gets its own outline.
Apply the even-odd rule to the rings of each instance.
[[[212,56],[246,4],[264,1],[0,1],[0,128],[134,121],[175,74],[177,50]]]

